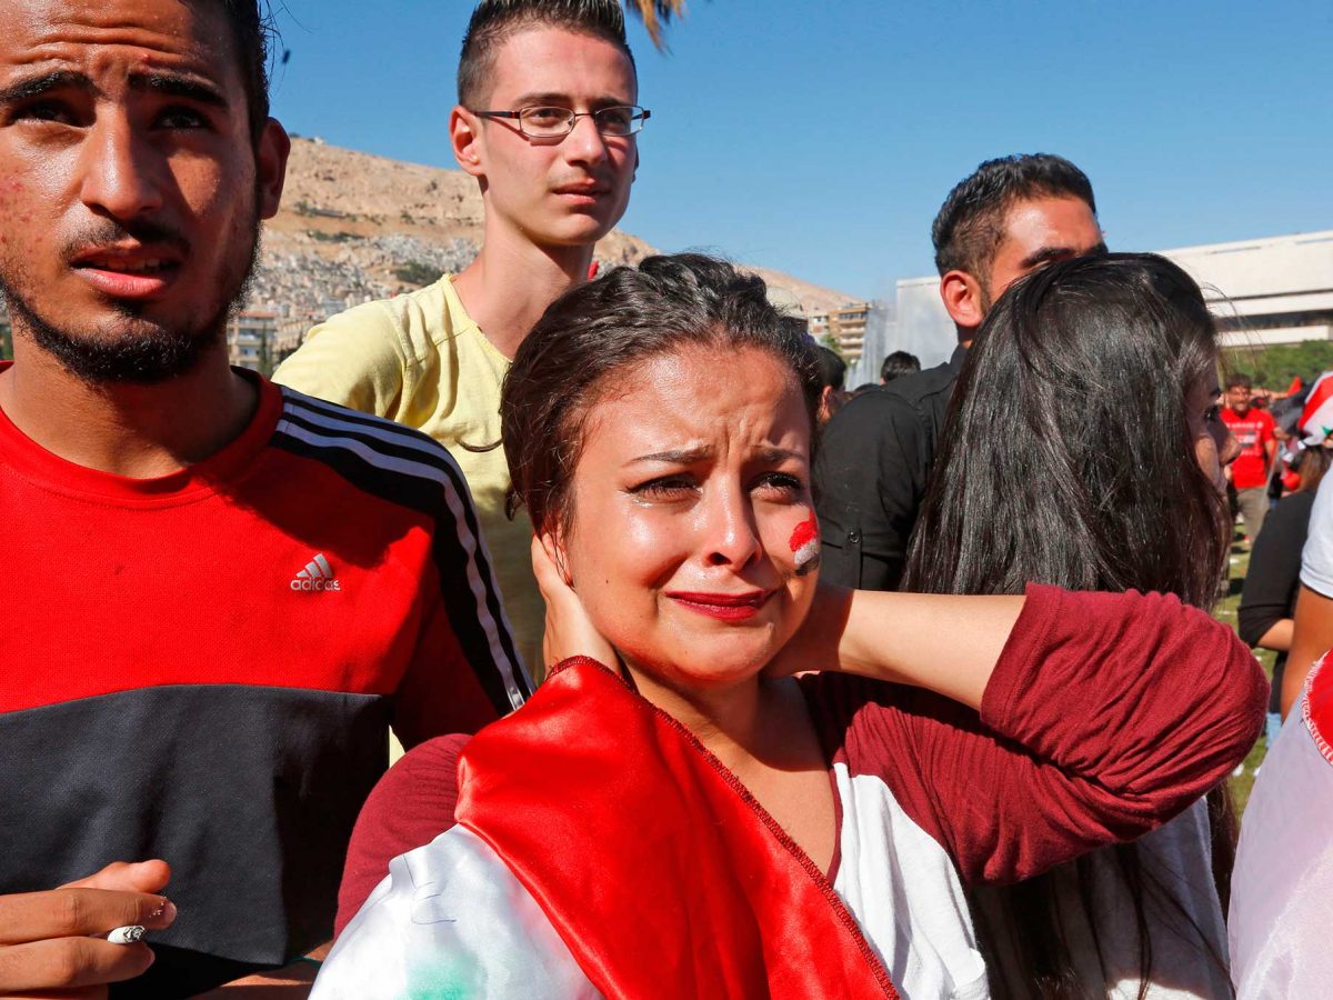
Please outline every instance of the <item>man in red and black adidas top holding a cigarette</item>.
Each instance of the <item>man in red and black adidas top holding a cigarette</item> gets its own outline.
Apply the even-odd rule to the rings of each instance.
[[[253,0],[0,5],[0,995],[291,963],[388,727],[528,693],[444,449],[228,367],[264,67]]]

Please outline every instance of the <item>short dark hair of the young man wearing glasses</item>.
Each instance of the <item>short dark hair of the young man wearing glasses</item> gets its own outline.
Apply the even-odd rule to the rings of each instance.
[[[481,0],[463,36],[459,104],[487,111],[480,105],[488,96],[485,84],[496,51],[515,32],[539,25],[604,39],[625,53],[631,67],[635,65],[620,0]]]

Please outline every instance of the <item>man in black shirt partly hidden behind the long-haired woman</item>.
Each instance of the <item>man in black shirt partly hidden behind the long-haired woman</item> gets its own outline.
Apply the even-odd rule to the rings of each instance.
[[[981,164],[949,192],[930,236],[958,347],[853,399],[820,443],[820,572],[844,587],[897,588],[953,385],[990,304],[1042,264],[1106,249],[1088,177],[1046,153]]]

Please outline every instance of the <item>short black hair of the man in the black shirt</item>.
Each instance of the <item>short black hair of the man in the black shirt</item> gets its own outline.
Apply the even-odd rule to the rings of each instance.
[[[944,200],[930,227],[940,273],[981,277],[1004,239],[1004,217],[1016,201],[1077,197],[1097,215],[1088,175],[1062,156],[1024,153],[986,160]]]

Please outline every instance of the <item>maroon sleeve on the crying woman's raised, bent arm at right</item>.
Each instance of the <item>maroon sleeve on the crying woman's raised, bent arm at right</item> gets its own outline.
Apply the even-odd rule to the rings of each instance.
[[[1236,633],[1176,597],[1033,585],[980,716],[873,681],[840,715],[852,772],[882,777],[964,881],[1006,883],[1184,811],[1253,747],[1266,697]]]

